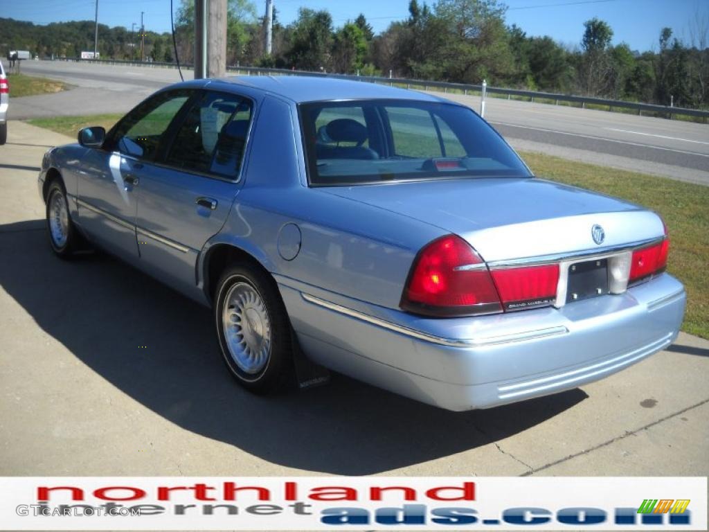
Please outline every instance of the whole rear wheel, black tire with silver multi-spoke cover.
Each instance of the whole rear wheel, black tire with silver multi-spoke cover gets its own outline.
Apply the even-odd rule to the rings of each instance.
[[[222,358],[250,392],[270,394],[294,382],[291,322],[272,277],[238,264],[223,272],[214,316]]]

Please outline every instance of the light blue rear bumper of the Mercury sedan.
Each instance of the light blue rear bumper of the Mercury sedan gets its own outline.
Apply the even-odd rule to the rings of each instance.
[[[686,303],[682,284],[667,274],[562,309],[449,319],[280,287],[310,358],[457,411],[562,392],[640,362],[674,341]]]

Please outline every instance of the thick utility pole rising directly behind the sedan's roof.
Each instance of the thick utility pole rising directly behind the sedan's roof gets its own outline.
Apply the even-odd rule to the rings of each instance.
[[[194,1],[194,79],[226,73],[227,0]]]

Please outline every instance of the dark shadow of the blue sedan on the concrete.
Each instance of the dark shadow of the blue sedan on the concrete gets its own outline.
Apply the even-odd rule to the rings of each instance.
[[[341,375],[306,392],[257,397],[223,367],[208,309],[101,253],[54,257],[40,223],[0,226],[0,285],[36,323],[165,419],[279,465],[340,475],[393,470],[520,433],[587,397],[574,389],[454,413]],[[461,473],[475,472],[470,464]]]

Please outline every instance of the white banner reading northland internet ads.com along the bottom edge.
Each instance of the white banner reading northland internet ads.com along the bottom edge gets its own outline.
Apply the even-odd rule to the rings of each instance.
[[[0,477],[0,530],[706,530],[707,477]]]

